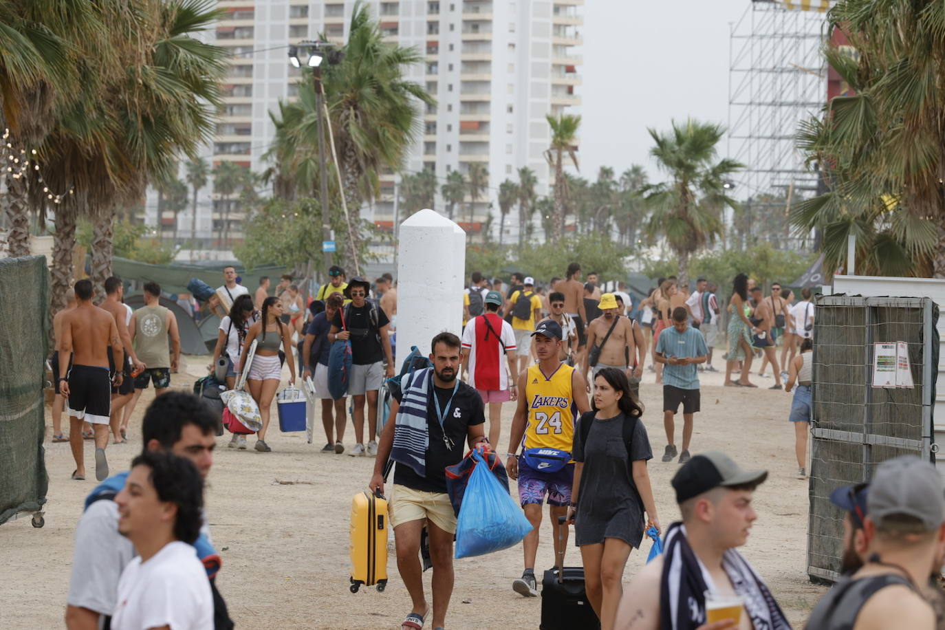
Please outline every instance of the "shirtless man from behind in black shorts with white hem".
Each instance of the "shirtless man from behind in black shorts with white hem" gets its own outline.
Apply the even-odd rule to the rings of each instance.
[[[60,376],[60,391],[69,399],[69,444],[76,460],[72,478],[85,480],[85,454],[82,452],[82,420],[88,420],[95,432],[95,479],[109,476],[105,448],[109,445],[109,414],[112,411],[112,383],[120,386],[121,372],[109,378],[109,352],[115,365],[125,363],[118,326],[108,311],[92,303],[92,281],[76,282],[76,308],[62,317],[60,362],[75,362],[67,376]]]

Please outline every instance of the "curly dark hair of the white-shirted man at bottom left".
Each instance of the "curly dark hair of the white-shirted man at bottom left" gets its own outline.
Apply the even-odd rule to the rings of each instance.
[[[131,468],[151,469],[148,479],[158,499],[177,505],[174,537],[188,545],[200,535],[203,509],[203,480],[194,464],[170,452],[145,451],[134,458]]]

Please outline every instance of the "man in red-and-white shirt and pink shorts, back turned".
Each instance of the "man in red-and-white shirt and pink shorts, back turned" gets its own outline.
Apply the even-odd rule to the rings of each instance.
[[[515,380],[508,376],[515,369],[515,332],[498,315],[501,293],[487,293],[484,306],[486,312],[472,317],[463,329],[461,351],[463,368],[469,370],[467,383],[489,405],[489,443],[498,444],[502,403],[517,400],[518,394]]]

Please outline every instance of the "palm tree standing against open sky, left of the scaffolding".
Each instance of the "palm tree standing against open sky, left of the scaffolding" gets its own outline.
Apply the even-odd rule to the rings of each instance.
[[[668,133],[647,130],[656,143],[650,155],[669,180],[644,188],[651,211],[645,230],[676,253],[682,284],[689,278],[692,255],[721,235],[722,208],[736,207],[725,183],[743,166],[728,159],[715,162],[715,145],[725,133],[721,125],[689,119],[682,125],[674,121]]]

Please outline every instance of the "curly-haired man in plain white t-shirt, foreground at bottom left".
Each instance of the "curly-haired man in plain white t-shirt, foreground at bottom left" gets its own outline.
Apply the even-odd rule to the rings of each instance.
[[[115,497],[118,532],[139,555],[118,581],[112,630],[208,630],[214,596],[191,547],[199,534],[203,481],[190,460],[145,451]]]

